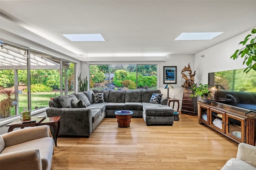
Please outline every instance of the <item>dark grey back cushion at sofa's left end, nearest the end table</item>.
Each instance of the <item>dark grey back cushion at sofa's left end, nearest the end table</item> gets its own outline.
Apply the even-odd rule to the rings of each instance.
[[[53,98],[53,102],[57,108],[71,108],[71,100],[77,100],[74,94],[70,94],[67,96],[59,96],[57,98]]]

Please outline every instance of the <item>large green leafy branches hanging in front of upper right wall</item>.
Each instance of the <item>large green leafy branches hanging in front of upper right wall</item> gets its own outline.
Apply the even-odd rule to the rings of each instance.
[[[252,34],[256,33],[256,29],[252,29]],[[243,64],[246,64],[247,67],[244,69],[244,72],[248,73],[251,69],[256,70],[256,37],[252,34],[248,34],[244,41],[241,41],[239,44],[245,45],[241,49],[237,49],[236,52],[230,57],[231,59],[237,59],[239,56],[244,57]],[[246,44],[250,40],[249,44]]]

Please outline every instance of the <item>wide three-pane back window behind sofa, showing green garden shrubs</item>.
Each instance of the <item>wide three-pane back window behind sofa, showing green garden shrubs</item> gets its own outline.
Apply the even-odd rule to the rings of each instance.
[[[156,64],[90,65],[90,89],[157,89]]]

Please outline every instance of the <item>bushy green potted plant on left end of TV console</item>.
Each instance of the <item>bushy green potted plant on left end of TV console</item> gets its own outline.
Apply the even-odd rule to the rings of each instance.
[[[192,85],[191,90],[193,90],[193,94],[190,97],[201,97],[201,102],[207,102],[207,98],[211,97],[211,90],[208,89],[208,84],[199,84],[200,86],[196,86],[196,84]]]

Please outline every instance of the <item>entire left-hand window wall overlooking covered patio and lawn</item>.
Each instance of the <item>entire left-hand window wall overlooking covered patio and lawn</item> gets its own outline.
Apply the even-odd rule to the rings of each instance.
[[[36,111],[48,107],[55,96],[74,93],[74,63],[0,43],[0,121],[19,115],[25,108]]]

